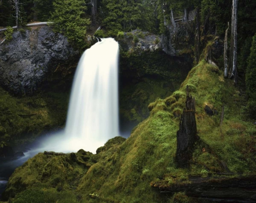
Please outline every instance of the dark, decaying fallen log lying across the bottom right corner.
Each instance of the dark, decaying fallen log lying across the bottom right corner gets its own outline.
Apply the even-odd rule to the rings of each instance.
[[[225,176],[223,176],[225,175]],[[256,202],[256,176],[227,177],[229,174],[208,174],[208,177],[188,176],[186,181],[168,184],[167,180],[151,183],[161,193],[185,192],[198,202]],[[230,174],[233,175],[233,174]]]

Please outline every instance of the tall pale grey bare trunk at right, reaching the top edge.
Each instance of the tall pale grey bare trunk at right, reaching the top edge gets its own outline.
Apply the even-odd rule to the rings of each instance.
[[[229,75],[230,79],[233,79],[234,84],[237,84],[237,1],[233,0],[233,7],[232,7],[232,21],[234,21],[233,27],[233,61],[232,61],[232,71]]]

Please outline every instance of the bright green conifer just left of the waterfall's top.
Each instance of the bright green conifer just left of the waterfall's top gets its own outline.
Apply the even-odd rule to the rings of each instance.
[[[83,0],[55,0],[51,20],[54,31],[63,33],[74,47],[84,50],[87,46],[86,28],[90,20],[83,18],[86,6]]]

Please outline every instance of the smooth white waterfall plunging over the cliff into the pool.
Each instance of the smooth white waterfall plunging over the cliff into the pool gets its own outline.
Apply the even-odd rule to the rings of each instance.
[[[96,152],[119,135],[118,43],[101,39],[82,55],[71,91],[65,136],[51,136],[45,150]]]

